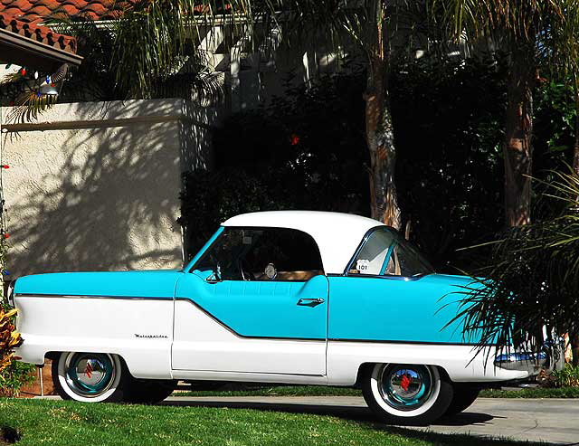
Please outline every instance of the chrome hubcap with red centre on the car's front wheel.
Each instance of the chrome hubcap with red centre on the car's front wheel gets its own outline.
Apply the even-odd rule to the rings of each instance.
[[[64,366],[66,382],[75,394],[96,397],[107,392],[115,379],[115,365],[110,355],[73,353]]]

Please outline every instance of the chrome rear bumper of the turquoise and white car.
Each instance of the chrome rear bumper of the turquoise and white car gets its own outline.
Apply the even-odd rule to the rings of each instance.
[[[565,348],[562,342],[546,344],[540,352],[513,352],[498,355],[494,365],[503,370],[538,375],[541,370],[551,373],[565,366]]]

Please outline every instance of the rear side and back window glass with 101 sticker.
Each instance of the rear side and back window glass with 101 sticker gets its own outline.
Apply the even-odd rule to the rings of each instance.
[[[412,243],[394,230],[379,227],[366,238],[347,272],[349,275],[416,277],[432,274],[434,269]]]

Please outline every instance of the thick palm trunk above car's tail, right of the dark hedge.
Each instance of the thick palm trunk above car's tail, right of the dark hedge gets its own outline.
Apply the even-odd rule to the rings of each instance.
[[[505,128],[505,214],[507,225],[530,223],[533,150],[533,88],[536,69],[533,49],[513,48],[508,73]]]

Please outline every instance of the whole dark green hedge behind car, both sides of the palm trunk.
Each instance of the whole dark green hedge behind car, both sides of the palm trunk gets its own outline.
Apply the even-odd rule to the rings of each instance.
[[[411,239],[438,270],[470,266],[456,249],[501,227],[503,75],[491,60],[425,61],[394,71],[403,214]],[[267,109],[227,119],[214,136],[216,171],[186,176],[184,223],[198,239],[190,253],[240,212],[369,214],[364,88],[362,71],[328,76],[289,89]]]

